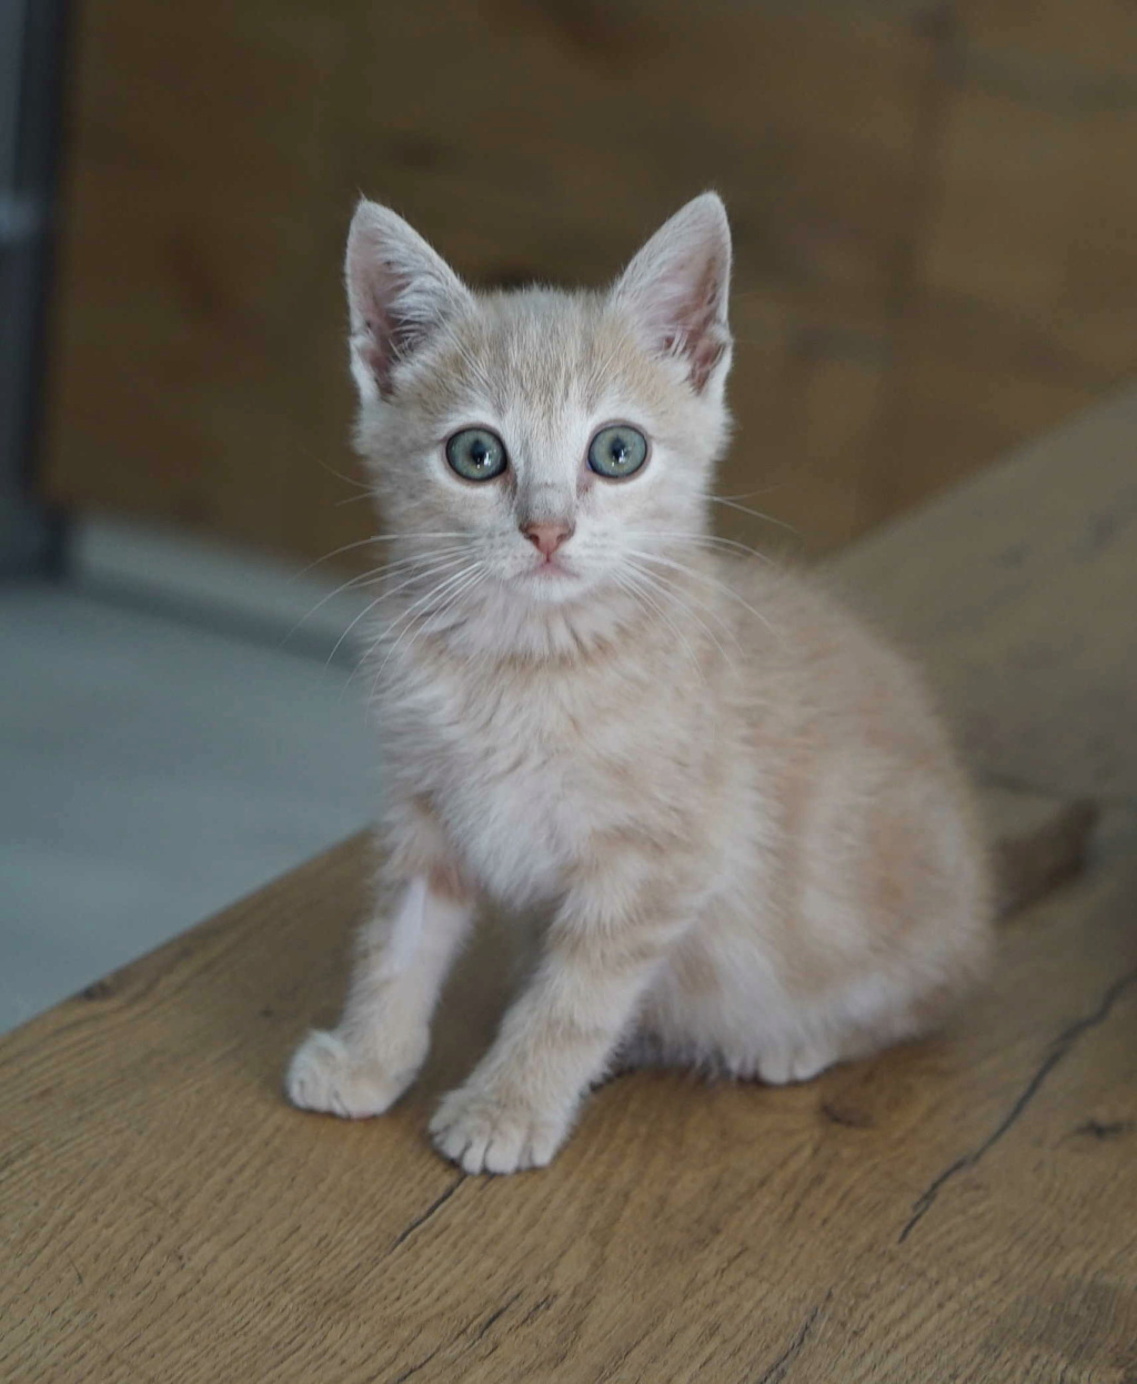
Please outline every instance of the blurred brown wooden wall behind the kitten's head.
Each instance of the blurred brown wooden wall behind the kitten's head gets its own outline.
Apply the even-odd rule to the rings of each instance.
[[[713,185],[738,245],[720,490],[834,547],[1131,368],[1133,107],[1108,46],[1062,29],[1125,14],[1080,12],[87,0],[46,487],[285,554],[350,543],[360,190],[479,282],[602,282]],[[1108,108],[1054,108],[1055,44],[1061,90]]]

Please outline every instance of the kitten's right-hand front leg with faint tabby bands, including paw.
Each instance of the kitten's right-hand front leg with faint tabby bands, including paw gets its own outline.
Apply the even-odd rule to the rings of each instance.
[[[467,1172],[541,1168],[564,1142],[686,923],[647,871],[625,862],[619,877],[609,871],[571,890],[493,1046],[439,1104],[435,1146]]]

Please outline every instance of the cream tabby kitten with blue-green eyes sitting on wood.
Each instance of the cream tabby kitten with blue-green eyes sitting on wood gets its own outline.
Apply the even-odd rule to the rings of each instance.
[[[357,444],[395,559],[368,663],[385,864],[295,1104],[399,1099],[482,898],[550,920],[431,1122],[468,1172],[547,1164],[616,1066],[806,1081],[982,973],[985,857],[913,670],[710,536],[730,259],[706,194],[609,292],[474,293],[360,203]]]

